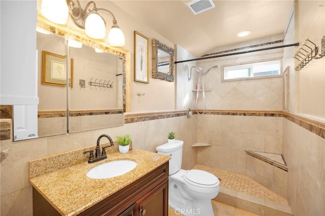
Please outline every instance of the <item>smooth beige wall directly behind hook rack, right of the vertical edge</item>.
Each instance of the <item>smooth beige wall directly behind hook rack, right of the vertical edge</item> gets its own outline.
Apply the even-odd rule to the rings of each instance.
[[[322,5],[322,6],[321,6]],[[320,40],[325,35],[325,1],[298,1],[296,13],[299,42],[305,38],[314,42],[320,53]],[[307,42],[309,43],[309,42]],[[309,43],[308,45],[311,46]],[[295,64],[298,60],[295,61]],[[296,112],[312,115],[325,121],[325,58],[313,59],[302,70],[299,77],[298,109]]]

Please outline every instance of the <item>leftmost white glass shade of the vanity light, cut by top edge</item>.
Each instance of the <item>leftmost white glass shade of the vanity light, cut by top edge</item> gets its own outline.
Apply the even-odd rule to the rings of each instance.
[[[43,0],[41,14],[52,22],[66,24],[69,16],[68,5],[64,0]]]

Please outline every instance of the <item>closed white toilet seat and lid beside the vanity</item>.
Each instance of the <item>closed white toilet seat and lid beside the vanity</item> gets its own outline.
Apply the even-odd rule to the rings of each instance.
[[[184,175],[184,181],[201,188],[214,188],[219,185],[219,179],[210,172],[191,169]]]

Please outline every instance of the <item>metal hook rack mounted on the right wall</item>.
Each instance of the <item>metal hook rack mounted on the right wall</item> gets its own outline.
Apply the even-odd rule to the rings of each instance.
[[[299,63],[295,67],[295,70],[303,69],[303,67],[305,67],[314,58],[320,59],[321,57],[323,57],[323,55],[321,54],[319,54],[320,57],[316,57],[317,53],[318,47],[316,46],[316,44],[314,44],[314,42],[312,42],[311,40],[309,40],[308,37],[306,37],[305,42],[302,43],[302,46],[299,47],[299,49],[293,56],[293,58],[299,61]]]

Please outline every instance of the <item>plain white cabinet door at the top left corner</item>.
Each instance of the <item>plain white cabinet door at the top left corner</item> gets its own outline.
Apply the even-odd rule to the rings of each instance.
[[[1,1],[1,105],[38,105],[37,2]]]

